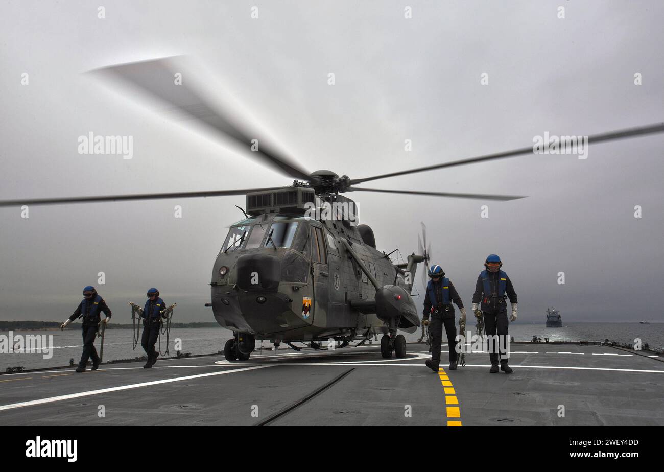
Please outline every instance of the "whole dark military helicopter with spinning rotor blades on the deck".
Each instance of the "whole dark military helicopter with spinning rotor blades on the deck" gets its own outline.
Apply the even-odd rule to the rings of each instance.
[[[157,99],[190,121],[207,127],[226,142],[250,147],[251,155],[294,178],[288,187],[224,189],[197,192],[106,195],[0,201],[0,206],[149,200],[156,198],[246,195],[242,220],[232,224],[212,268],[210,303],[216,321],[234,333],[224,347],[228,360],[246,360],[256,340],[303,343],[320,348],[330,339],[345,347],[382,334],[380,353],[406,356],[406,339],[420,317],[411,297],[418,264],[428,264],[430,247],[420,239],[420,254],[394,264],[376,249],[373,230],[357,224],[355,203],[341,195],[381,192],[402,195],[514,200],[513,195],[444,193],[357,187],[369,181],[447,169],[506,157],[529,155],[533,147],[471,157],[427,167],[351,179],[333,171],[309,172],[295,159],[268,144],[247,120],[224,112],[205,98],[201,88],[173,78],[183,74],[180,58],[159,58],[93,71],[129,84],[141,96]],[[183,74],[187,76],[186,74]],[[664,123],[588,137],[588,144],[661,133]],[[238,207],[239,208],[239,207]]]

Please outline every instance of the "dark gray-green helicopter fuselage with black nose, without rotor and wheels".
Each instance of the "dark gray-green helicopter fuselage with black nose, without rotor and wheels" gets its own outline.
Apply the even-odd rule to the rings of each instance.
[[[260,214],[230,227],[212,311],[222,327],[273,342],[412,333],[420,322],[405,274],[347,222]]]

